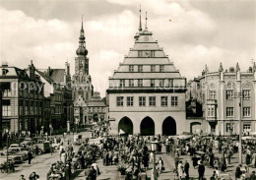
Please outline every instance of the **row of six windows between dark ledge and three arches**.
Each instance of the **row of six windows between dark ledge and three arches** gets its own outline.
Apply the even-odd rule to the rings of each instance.
[[[156,96],[149,96],[149,106],[156,106]],[[139,106],[146,106],[146,96],[139,96]],[[126,105],[134,106],[134,96],[126,97]],[[172,107],[178,106],[178,97],[170,96],[170,105]],[[124,106],[124,97],[117,96],[116,97],[116,106]],[[160,96],[160,106],[168,106],[168,96]]]

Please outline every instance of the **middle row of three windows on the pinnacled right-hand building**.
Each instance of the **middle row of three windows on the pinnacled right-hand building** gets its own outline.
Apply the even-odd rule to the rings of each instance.
[[[233,117],[234,109],[233,107],[226,107],[225,110],[225,116],[226,117]],[[208,117],[215,117],[216,116],[216,110],[214,105],[208,106]],[[250,117],[251,116],[251,108],[250,107],[243,107],[242,112],[243,117]]]

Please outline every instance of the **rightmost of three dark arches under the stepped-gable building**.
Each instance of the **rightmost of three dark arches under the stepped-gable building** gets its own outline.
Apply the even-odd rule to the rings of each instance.
[[[172,136],[177,134],[176,122],[172,117],[166,117],[162,122],[162,135]]]

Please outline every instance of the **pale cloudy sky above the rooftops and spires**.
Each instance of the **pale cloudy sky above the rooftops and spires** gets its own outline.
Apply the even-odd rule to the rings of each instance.
[[[235,67],[247,71],[256,58],[256,1],[250,0],[0,0],[0,63],[74,74],[84,17],[90,74],[105,95],[108,77],[134,45],[139,7],[145,27],[187,80]],[[171,20],[171,21],[170,21]]]

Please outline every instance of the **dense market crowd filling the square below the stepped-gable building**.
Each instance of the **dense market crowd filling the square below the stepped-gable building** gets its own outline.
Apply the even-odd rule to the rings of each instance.
[[[239,151],[237,136],[117,136],[109,137],[109,123],[100,122],[91,128],[91,139],[80,144],[77,151],[73,145],[60,147],[60,160],[53,163],[48,172],[48,179],[70,179],[76,169],[87,169],[87,179],[96,180],[100,174],[96,164],[96,156],[102,158],[103,165],[117,165],[120,177],[125,180],[146,178],[150,170],[151,179],[158,179],[165,170],[161,155],[156,154],[164,150],[174,159],[174,179],[190,179],[190,168],[198,171],[198,179],[206,177],[206,169],[212,169],[211,180],[221,179],[222,174],[230,170],[230,164],[237,163],[233,155]],[[91,140],[100,140],[96,145]],[[69,143],[68,143],[69,144]],[[249,168],[256,167],[256,142],[243,141],[245,164],[239,164],[235,169],[235,178],[255,179],[255,171],[250,173]],[[236,155],[237,156],[237,155]],[[185,158],[185,160],[183,160]],[[191,160],[189,160],[191,158]],[[191,164],[190,164],[191,161]]]

